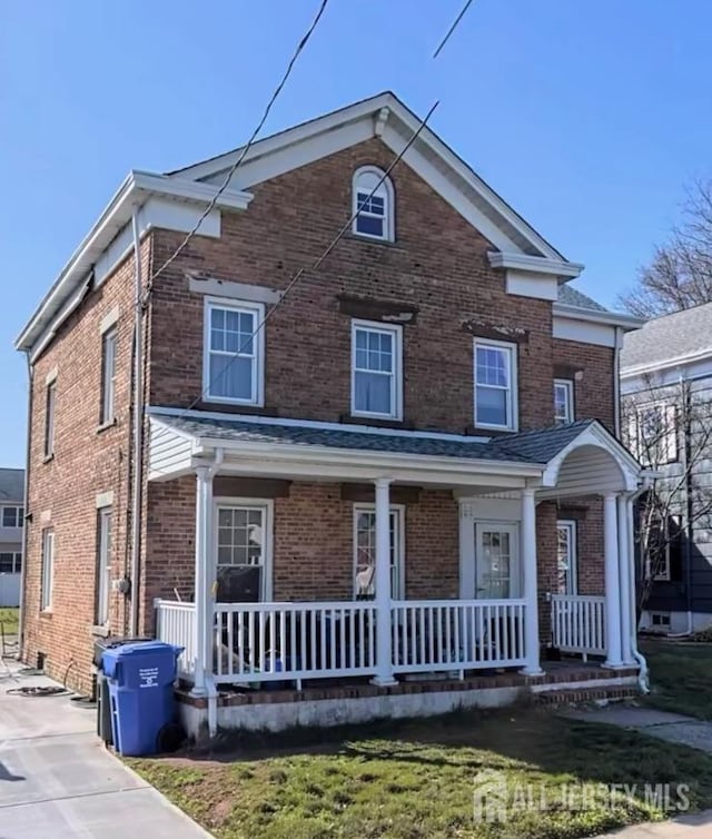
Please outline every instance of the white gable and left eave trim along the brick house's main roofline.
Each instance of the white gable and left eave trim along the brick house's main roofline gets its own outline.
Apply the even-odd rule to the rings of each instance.
[[[245,191],[246,186],[373,137],[379,137],[399,154],[421,125],[413,111],[386,91],[266,137],[250,147],[230,186],[220,195],[216,211],[245,210],[253,197]],[[184,207],[205,207],[215,198],[225,172],[240,152],[241,149],[236,149],[168,175],[131,170],[44,295],[17,338],[16,347],[37,356],[51,340],[81,304],[92,278],[99,282],[129,253],[132,217],[138,218],[139,235],[151,225],[191,229],[194,223],[186,227],[185,220],[177,220],[177,214],[171,215],[171,224],[177,226],[171,226],[165,215],[157,221],[148,215],[144,218],[144,211],[154,197]],[[491,258],[500,258],[500,267],[547,275],[560,282],[581,273],[582,265],[565,259],[427,126],[403,159],[493,243],[496,250]],[[494,260],[492,264],[495,265]]]

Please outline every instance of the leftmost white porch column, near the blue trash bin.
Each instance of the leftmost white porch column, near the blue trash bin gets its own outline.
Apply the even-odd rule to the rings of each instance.
[[[196,468],[196,593],[194,697],[207,695],[206,675],[212,669],[212,470]]]

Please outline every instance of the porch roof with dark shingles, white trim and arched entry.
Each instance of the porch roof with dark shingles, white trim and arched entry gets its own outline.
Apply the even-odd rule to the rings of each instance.
[[[291,463],[295,458],[320,461],[335,467],[350,463],[372,471],[374,466],[397,466],[399,470],[517,475],[541,482],[543,486],[554,486],[563,460],[581,446],[586,451],[595,447],[600,456],[607,456],[612,464],[627,473],[626,485],[621,488],[631,488],[631,480],[640,472],[632,455],[595,420],[486,440],[165,407],[149,408],[149,416],[152,480],[185,474],[196,458],[210,455],[217,448],[222,448],[226,456],[230,453],[240,460],[259,458],[264,467],[266,458],[289,457]],[[352,471],[354,478],[360,476]]]

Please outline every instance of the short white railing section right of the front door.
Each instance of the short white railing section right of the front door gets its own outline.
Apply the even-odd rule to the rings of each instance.
[[[552,641],[562,652],[605,653],[605,598],[552,594]]]

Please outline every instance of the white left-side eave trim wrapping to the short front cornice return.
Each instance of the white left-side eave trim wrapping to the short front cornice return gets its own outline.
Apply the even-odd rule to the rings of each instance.
[[[32,349],[77,288],[88,282],[93,265],[130,221],[135,208],[140,207],[150,196],[207,205],[215,198],[217,190],[218,187],[209,184],[131,170],[18,336],[16,349]],[[249,193],[226,189],[218,198],[216,207],[225,210],[244,210],[251,198]]]

